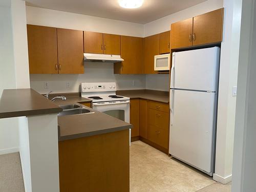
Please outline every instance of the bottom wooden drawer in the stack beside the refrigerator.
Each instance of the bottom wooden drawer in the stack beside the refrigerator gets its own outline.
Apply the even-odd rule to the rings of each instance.
[[[154,125],[149,125],[146,134],[148,140],[168,148],[168,131],[159,129],[159,127]]]

